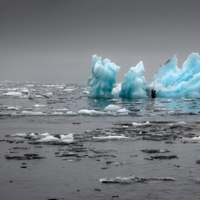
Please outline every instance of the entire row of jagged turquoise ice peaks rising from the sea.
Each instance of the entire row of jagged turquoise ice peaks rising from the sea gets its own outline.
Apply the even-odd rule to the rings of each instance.
[[[200,56],[192,53],[183,63],[182,68],[177,66],[177,57],[174,55],[150,83],[146,83],[143,73],[143,62],[131,67],[125,74],[126,80],[116,84],[116,74],[120,67],[109,59],[101,61],[101,57],[93,56],[92,77],[88,79],[91,87],[89,98],[192,98],[200,97]]]

